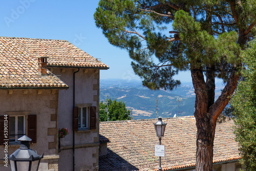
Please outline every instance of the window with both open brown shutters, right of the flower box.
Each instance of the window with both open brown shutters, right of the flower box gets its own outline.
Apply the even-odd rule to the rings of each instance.
[[[96,129],[96,106],[79,106],[73,109],[73,131]]]

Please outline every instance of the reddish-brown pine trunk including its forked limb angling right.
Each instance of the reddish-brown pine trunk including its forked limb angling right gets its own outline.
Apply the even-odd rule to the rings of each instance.
[[[206,73],[206,82],[202,69],[190,70],[196,93],[194,113],[197,125],[196,171],[212,171],[217,118],[227,105],[239,79],[239,74],[235,70],[232,71],[221,95],[214,101],[214,74],[212,74],[210,67]],[[191,65],[191,68],[196,67]]]

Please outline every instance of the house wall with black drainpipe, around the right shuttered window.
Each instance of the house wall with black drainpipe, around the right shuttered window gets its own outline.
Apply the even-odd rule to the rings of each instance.
[[[73,169],[73,73],[77,69],[52,68],[68,90],[59,91],[58,127],[67,127],[70,134],[60,139],[59,170]],[[75,133],[75,170],[97,170],[99,163],[99,70],[80,69],[75,74],[75,106],[96,106],[96,130],[79,130]]]

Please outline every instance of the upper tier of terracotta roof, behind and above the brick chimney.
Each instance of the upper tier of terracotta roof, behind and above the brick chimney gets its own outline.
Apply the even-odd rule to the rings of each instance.
[[[67,40],[0,37],[2,55],[30,58],[47,56],[48,66],[106,68],[101,61]]]

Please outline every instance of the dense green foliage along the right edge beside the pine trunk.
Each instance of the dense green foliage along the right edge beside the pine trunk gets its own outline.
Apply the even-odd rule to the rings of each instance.
[[[241,164],[256,170],[256,42],[252,41],[242,57],[245,68],[231,105],[234,108],[235,134],[241,151]]]

